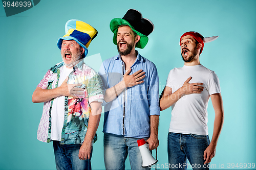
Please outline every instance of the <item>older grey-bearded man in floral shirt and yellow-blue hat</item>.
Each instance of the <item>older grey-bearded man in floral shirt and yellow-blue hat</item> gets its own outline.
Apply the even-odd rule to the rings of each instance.
[[[48,70],[32,95],[34,103],[44,102],[37,139],[53,141],[57,169],[91,169],[103,94],[101,78],[83,58],[96,36],[88,23],[69,20],[57,42],[63,62]]]

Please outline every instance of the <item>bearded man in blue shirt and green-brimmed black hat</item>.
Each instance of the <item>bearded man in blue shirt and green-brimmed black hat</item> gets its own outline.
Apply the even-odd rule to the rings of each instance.
[[[124,169],[129,154],[132,169],[142,168],[137,140],[158,147],[159,79],[154,63],[135,47],[144,48],[153,23],[130,9],[110,22],[119,55],[105,60],[99,70],[104,93],[104,162],[106,169]]]

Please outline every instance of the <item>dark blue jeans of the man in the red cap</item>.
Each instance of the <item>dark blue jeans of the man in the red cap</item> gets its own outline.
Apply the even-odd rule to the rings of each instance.
[[[187,169],[187,159],[193,169],[209,169],[204,164],[204,151],[210,144],[208,135],[168,133],[169,169]]]

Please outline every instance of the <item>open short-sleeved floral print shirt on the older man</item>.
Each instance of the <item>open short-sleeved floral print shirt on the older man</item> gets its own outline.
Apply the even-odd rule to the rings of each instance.
[[[59,76],[64,66],[65,64],[60,62],[50,68],[37,87],[42,89],[58,87]],[[60,142],[61,144],[79,144],[83,142],[88,129],[91,112],[90,103],[93,101],[103,101],[102,81],[97,72],[81,60],[73,67],[68,83],[82,84],[80,88],[83,88],[84,92],[82,95],[77,95],[78,99],[65,96],[65,113]],[[37,130],[37,139],[43,142],[51,141],[51,109],[53,100],[44,103]],[[96,140],[97,134],[95,134],[93,142]]]

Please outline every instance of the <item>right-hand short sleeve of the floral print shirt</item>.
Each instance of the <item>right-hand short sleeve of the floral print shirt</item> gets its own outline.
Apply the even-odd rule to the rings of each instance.
[[[102,80],[98,74],[95,74],[89,81],[87,85],[89,103],[93,101],[103,101],[103,86]]]

